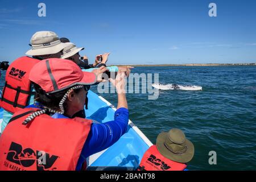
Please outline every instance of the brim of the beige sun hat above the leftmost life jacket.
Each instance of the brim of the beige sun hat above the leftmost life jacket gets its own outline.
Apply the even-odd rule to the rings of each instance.
[[[46,48],[40,48],[40,49],[30,49],[26,52],[26,55],[28,56],[40,56],[40,55],[51,55],[57,52],[60,52],[65,47],[67,47],[67,44],[60,43],[56,46],[52,47],[46,47]]]

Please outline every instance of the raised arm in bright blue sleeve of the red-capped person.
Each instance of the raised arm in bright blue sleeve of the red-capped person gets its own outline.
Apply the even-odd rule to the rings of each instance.
[[[115,86],[118,94],[117,111],[114,114],[114,121],[96,124],[93,123],[89,135],[80,155],[77,169],[80,169],[82,163],[88,156],[96,154],[112,146],[127,130],[129,121],[129,111],[125,96],[125,73],[118,73],[115,80],[109,79]]]

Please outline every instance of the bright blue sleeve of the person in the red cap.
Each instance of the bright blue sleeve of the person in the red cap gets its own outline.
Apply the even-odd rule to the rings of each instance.
[[[82,165],[88,156],[96,154],[112,146],[126,133],[129,121],[129,111],[126,108],[119,108],[115,111],[114,121],[106,123],[92,123],[89,135],[80,155],[77,167]]]

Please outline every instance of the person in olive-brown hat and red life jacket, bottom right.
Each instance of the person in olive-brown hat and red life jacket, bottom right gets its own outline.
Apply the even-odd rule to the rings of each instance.
[[[162,132],[143,155],[138,171],[183,171],[195,152],[193,143],[186,139],[183,131],[171,129]]]

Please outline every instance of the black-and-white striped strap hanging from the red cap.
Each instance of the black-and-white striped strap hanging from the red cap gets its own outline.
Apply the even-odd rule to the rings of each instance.
[[[63,104],[64,104],[65,100],[67,100],[68,94],[69,94],[72,90],[81,89],[81,88],[83,88],[83,87],[84,87],[84,86],[82,86],[82,85],[73,86],[71,89],[68,90],[67,93],[65,93],[65,95],[63,96],[63,98],[61,99],[60,104],[59,104],[59,107],[60,107],[60,110],[61,110],[61,111],[57,111],[57,110],[51,109],[51,108],[49,108],[49,107],[43,106],[43,110],[38,110],[38,111],[35,111],[35,113],[30,114],[30,115],[23,121],[22,125],[27,125],[28,122],[33,121],[33,120],[34,120],[36,117],[38,117],[39,115],[41,115],[41,114],[46,114],[47,111],[49,111],[49,113],[64,114],[64,113],[65,113],[65,110],[64,110]]]

